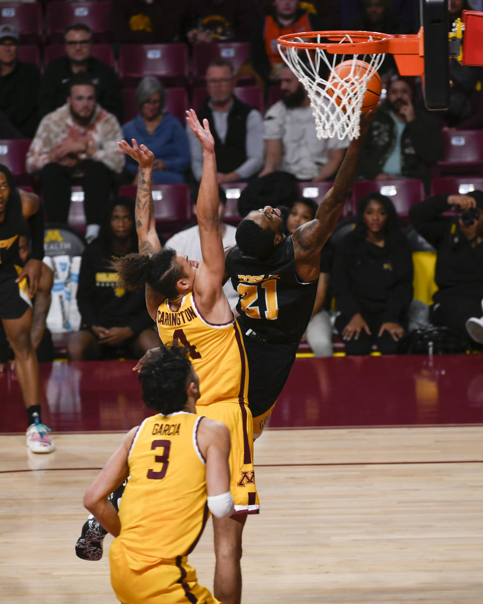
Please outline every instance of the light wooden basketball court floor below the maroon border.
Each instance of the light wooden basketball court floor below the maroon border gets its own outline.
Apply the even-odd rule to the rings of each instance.
[[[116,602],[107,544],[75,557],[83,493],[121,434],[0,437],[0,602]],[[283,429],[255,443],[262,510],[244,533],[243,603],[481,604],[483,426]],[[211,524],[190,562],[213,583]]]

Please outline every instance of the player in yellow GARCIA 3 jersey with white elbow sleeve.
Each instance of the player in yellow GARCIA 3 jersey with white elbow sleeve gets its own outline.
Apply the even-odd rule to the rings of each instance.
[[[146,406],[156,411],[132,428],[84,496],[84,505],[115,536],[110,581],[124,604],[219,600],[187,564],[208,509],[234,512],[226,426],[196,414],[199,377],[182,346],[162,346],[141,367]],[[119,515],[107,496],[127,480]]]

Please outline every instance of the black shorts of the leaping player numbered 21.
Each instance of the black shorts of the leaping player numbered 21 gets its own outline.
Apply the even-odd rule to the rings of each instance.
[[[243,333],[243,344],[248,358],[248,406],[252,416],[258,417],[280,396],[295,361],[298,344],[275,344],[246,333]]]

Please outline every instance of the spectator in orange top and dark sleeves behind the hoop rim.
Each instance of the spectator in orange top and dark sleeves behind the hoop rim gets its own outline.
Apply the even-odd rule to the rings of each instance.
[[[305,3],[300,3],[305,4]],[[297,31],[322,31],[321,19],[299,7],[298,0],[273,0],[266,16],[254,19],[251,43],[252,67],[263,82],[278,80],[285,65],[277,47],[277,38]]]

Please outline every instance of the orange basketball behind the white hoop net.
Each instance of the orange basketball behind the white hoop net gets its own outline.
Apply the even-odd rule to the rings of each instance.
[[[369,72],[370,76],[366,83],[366,91],[362,100],[361,112],[363,114],[368,112],[369,109],[372,109],[379,103],[382,82],[376,69],[365,61],[348,60],[336,65],[328,79],[329,85],[327,87],[327,94],[334,97],[339,106],[342,104],[343,100],[345,103],[350,103],[350,99],[348,99],[347,96],[355,91],[358,83],[366,77],[366,72]],[[337,77],[334,77],[334,74],[336,74]],[[342,82],[338,78],[340,78]]]

